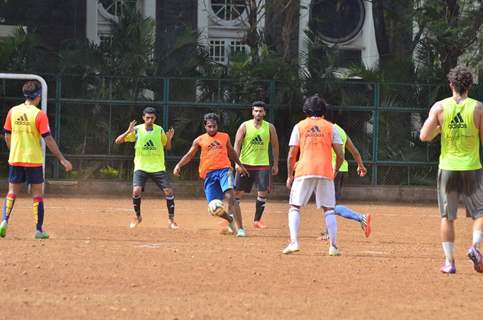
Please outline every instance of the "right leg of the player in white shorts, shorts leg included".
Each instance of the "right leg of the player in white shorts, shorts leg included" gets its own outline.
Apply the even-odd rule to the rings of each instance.
[[[329,234],[329,255],[340,255],[337,247],[337,219],[335,214],[334,181],[317,178],[315,188],[315,203],[324,212],[325,225]]]

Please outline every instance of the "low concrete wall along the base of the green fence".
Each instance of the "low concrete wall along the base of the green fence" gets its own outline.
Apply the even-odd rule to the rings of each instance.
[[[127,181],[115,182],[106,180],[92,181],[47,181],[46,193],[66,195],[110,195],[129,197],[131,183]],[[204,197],[201,181],[174,181],[174,188],[178,197]],[[7,181],[0,180],[0,191],[7,191]],[[145,194],[160,195],[156,185],[149,182]],[[252,192],[251,196],[255,193]],[[273,186],[272,199],[287,199],[288,190],[283,184]],[[436,202],[435,187],[409,186],[345,186],[344,200],[357,201],[397,201],[397,202]]]

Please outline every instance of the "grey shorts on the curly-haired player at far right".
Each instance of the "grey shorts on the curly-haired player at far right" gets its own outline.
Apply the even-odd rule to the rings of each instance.
[[[483,217],[482,169],[471,171],[438,171],[438,206],[442,218],[456,219],[460,196],[466,216]]]

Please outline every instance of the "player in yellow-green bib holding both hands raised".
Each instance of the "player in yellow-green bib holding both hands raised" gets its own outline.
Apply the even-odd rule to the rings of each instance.
[[[166,206],[168,207],[168,227],[178,229],[174,221],[174,192],[166,173],[164,160],[164,148],[171,150],[171,141],[174,136],[174,129],[164,132],[161,126],[155,124],[156,109],[146,107],[143,110],[144,123],[136,126],[136,120],[129,123],[129,127],[116,138],[115,143],[134,142],[134,174],[132,188],[132,202],[134,215],[129,225],[135,228],[142,221],[141,196],[148,178],[164,193]]]

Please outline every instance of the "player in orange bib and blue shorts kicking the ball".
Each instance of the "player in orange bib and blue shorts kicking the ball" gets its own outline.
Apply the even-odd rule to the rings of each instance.
[[[238,159],[238,155],[233,149],[230,137],[224,132],[218,131],[220,118],[215,113],[207,113],[203,117],[206,133],[193,140],[193,144],[188,152],[181,158],[174,167],[173,173],[176,176],[181,174],[181,168],[188,164],[196,153],[201,150],[199,174],[204,180],[205,196],[208,203],[218,199],[228,202],[228,211],[221,211],[219,216],[229,223],[229,228],[235,231],[234,219],[238,226],[237,237],[245,237],[243,229],[240,205],[235,201],[233,192],[233,173],[230,160],[240,167],[241,174],[248,175],[247,170]],[[233,219],[234,216],[234,219]]]

